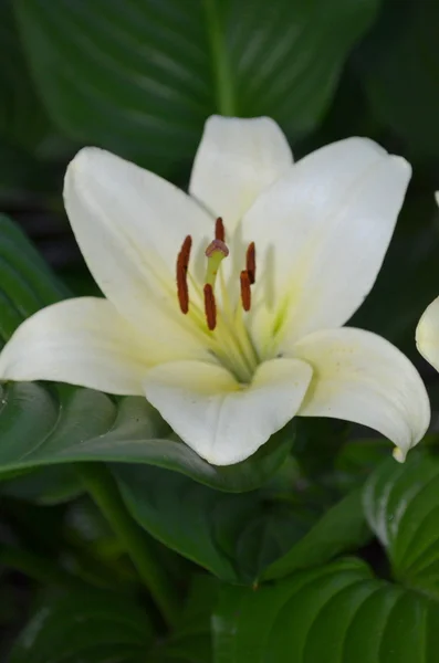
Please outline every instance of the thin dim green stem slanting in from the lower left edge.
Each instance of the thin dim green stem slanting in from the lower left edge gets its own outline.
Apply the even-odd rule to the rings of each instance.
[[[69,589],[90,587],[82,578],[60,568],[53,561],[15,546],[0,545],[0,564],[44,585],[59,585]]]

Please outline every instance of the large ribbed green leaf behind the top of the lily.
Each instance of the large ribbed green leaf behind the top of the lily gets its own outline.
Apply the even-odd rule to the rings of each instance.
[[[70,136],[170,170],[203,120],[270,115],[290,135],[324,114],[377,0],[18,0],[49,113]]]

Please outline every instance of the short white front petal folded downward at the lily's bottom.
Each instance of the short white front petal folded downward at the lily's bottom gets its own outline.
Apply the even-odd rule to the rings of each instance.
[[[242,387],[224,368],[179,361],[153,368],[145,392],[200,456],[213,465],[231,465],[253,454],[294,417],[311,376],[303,361],[273,359]]]

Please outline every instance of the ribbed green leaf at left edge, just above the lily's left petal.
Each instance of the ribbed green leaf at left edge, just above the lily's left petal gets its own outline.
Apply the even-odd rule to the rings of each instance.
[[[66,296],[24,233],[0,214],[0,347],[23,319]]]

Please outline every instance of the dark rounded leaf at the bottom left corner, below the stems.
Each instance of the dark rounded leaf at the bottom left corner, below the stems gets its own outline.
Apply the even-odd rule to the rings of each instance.
[[[151,644],[148,618],[129,599],[71,591],[39,608],[10,663],[144,663]]]

